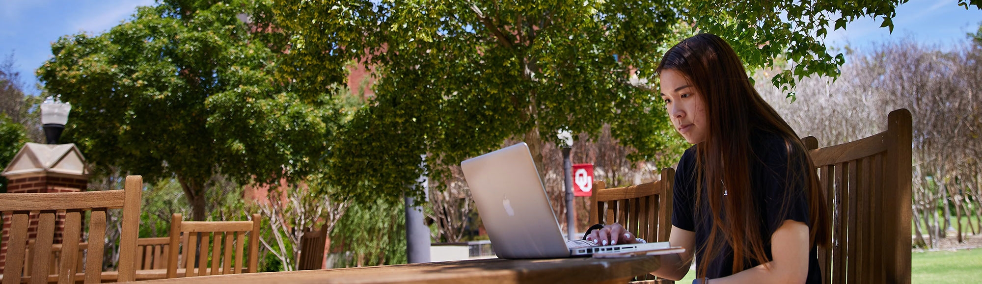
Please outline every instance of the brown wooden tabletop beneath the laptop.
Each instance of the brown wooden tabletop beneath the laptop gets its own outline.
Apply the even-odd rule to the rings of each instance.
[[[659,257],[462,260],[326,270],[227,274],[152,283],[627,283],[658,269]]]

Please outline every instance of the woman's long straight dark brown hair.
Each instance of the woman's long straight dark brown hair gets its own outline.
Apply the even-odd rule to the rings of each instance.
[[[697,277],[705,277],[710,260],[718,257],[722,241],[734,251],[733,273],[742,271],[746,260],[766,263],[762,236],[763,216],[750,186],[753,150],[751,131],[772,132],[784,138],[788,151],[788,190],[792,184],[805,188],[809,216],[809,248],[830,242],[828,209],[818,185],[814,164],[800,138],[784,118],[753,88],[743,64],[723,38],[702,33],[682,40],[665,53],[657,72],[680,71],[703,96],[708,132],[696,145],[696,206],[708,205],[713,225],[703,244]],[[801,182],[801,183],[798,183]],[[724,189],[724,185],[726,189]],[[727,190],[727,198],[724,198]],[[788,205],[792,194],[785,194]],[[787,212],[784,208],[782,215]],[[699,212],[699,211],[696,211]],[[697,216],[696,221],[703,219]],[[725,221],[724,221],[725,220]],[[778,224],[780,225],[780,224]],[[774,226],[777,227],[777,226]],[[770,236],[766,236],[770,239]]]

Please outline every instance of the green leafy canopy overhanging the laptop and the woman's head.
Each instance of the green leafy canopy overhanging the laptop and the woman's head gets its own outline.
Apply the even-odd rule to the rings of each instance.
[[[406,191],[420,173],[447,177],[506,138],[527,142],[540,170],[559,129],[595,137],[609,123],[632,161],[678,152],[648,86],[682,37],[720,34],[750,70],[795,63],[771,78],[789,91],[801,76],[839,73],[843,55],[822,43],[830,29],[859,17],[892,28],[903,2],[282,1],[267,20],[292,46],[278,76],[324,89],[345,60],[375,69],[377,97],[340,133],[332,180],[350,197],[396,201],[421,195]]]

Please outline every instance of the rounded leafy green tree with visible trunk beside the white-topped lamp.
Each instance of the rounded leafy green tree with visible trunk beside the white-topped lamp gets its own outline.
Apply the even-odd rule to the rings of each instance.
[[[213,174],[295,180],[320,168],[336,127],[326,93],[300,97],[270,75],[284,48],[248,24],[262,15],[247,0],[158,1],[106,33],[60,38],[37,75],[72,103],[66,139],[90,164],[175,177],[202,220]]]

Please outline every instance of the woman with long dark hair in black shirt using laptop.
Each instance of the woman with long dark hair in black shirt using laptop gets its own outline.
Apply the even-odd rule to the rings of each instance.
[[[699,283],[820,283],[818,246],[830,242],[828,209],[800,138],[747,78],[733,48],[703,33],[672,47],[658,67],[673,126],[688,143],[675,177],[669,242],[653,274]],[[592,231],[597,244],[639,240],[620,224]]]

